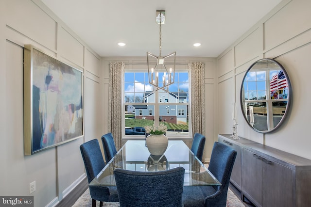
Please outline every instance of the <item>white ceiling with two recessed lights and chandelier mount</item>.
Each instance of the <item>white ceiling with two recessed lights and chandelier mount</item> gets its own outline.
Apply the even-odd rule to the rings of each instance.
[[[166,11],[162,55],[217,57],[281,0],[42,1],[102,57],[158,55],[156,10]]]

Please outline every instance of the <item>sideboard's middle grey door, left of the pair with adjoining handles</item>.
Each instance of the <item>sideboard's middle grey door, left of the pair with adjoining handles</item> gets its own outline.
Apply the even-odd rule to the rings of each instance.
[[[261,157],[245,148],[243,148],[242,193],[256,206],[262,206]]]

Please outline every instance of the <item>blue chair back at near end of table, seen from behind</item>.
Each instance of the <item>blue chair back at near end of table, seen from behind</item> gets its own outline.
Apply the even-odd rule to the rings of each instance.
[[[156,172],[117,168],[114,171],[120,207],[181,207],[185,169]]]

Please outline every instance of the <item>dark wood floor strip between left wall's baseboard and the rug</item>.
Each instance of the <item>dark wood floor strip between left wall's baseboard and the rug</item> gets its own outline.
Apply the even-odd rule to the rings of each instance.
[[[87,178],[83,179],[55,207],[71,207],[88,188]]]

